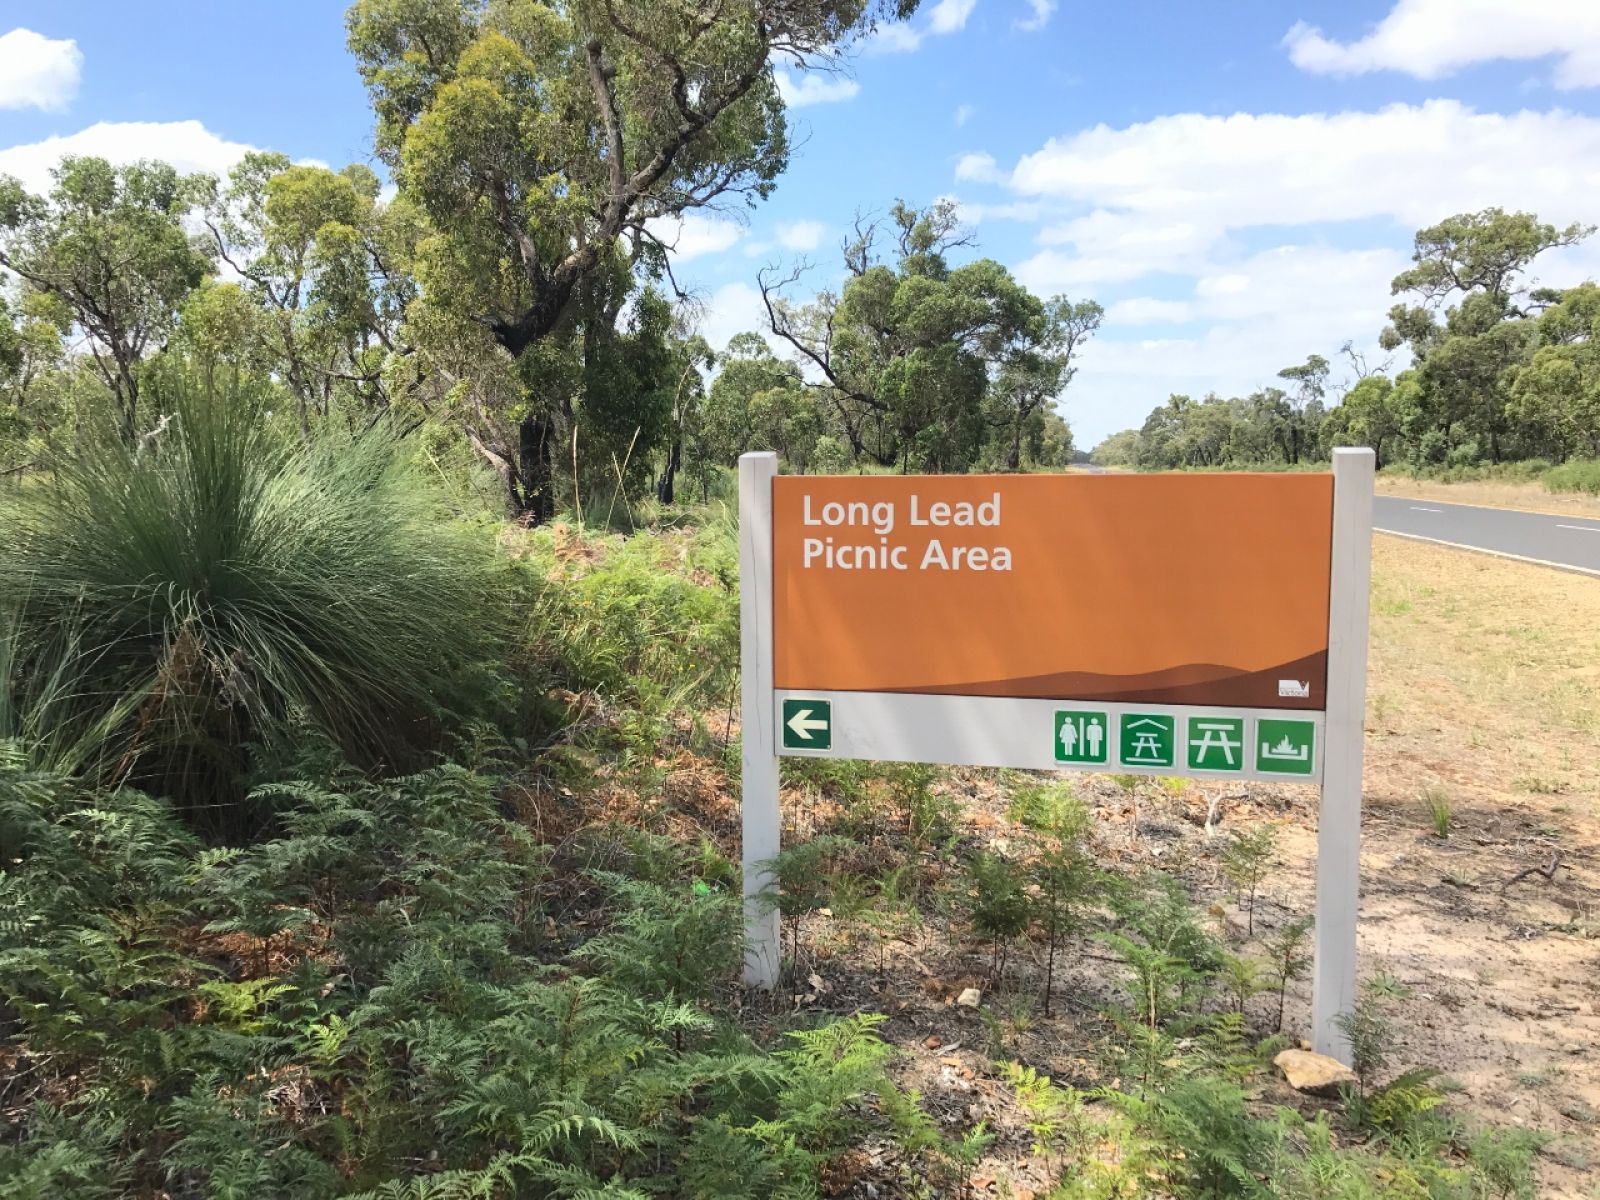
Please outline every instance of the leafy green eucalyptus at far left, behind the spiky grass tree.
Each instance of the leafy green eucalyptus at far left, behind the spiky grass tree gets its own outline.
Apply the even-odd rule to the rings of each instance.
[[[83,333],[117,427],[133,442],[144,360],[166,346],[184,299],[213,266],[184,224],[205,178],[166,163],[78,157],[62,158],[51,176],[48,197],[0,176],[0,267],[22,282],[24,296],[53,298]]]

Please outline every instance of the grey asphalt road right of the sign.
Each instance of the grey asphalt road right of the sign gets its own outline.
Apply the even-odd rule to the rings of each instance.
[[[1373,528],[1600,574],[1600,520],[1376,496]]]

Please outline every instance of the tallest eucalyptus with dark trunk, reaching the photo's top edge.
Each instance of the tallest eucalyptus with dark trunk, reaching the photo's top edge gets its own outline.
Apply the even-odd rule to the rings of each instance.
[[[667,269],[664,226],[765,197],[789,162],[774,69],[826,67],[915,0],[357,0],[349,46],[376,152],[427,232],[427,331],[475,325],[517,360],[470,398],[507,502],[554,509],[574,419],[573,301],[616,269]],[[554,346],[550,342],[555,342]],[[448,370],[448,368],[442,368]],[[514,398],[506,403],[510,390]]]

